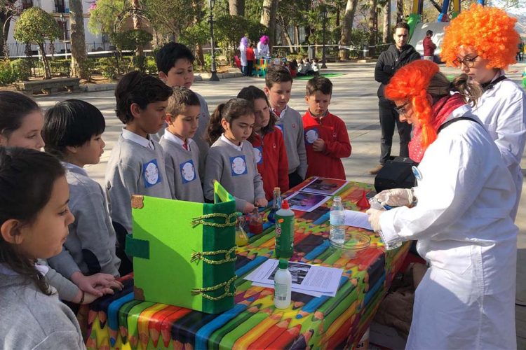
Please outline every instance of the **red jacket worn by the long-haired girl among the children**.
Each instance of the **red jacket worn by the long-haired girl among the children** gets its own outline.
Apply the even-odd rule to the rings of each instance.
[[[263,141],[256,133],[251,140],[257,171],[263,179],[265,197],[272,200],[275,187],[281,188],[281,193],[288,190],[288,159],[283,134],[274,127],[274,131],[266,134]]]

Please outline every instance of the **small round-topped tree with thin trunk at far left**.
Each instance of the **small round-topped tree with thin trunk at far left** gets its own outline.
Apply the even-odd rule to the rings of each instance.
[[[23,43],[35,43],[39,46],[44,66],[44,78],[51,78],[48,58],[46,57],[46,41],[54,41],[60,36],[53,15],[41,8],[28,8],[22,11],[20,19],[15,23],[15,39]]]

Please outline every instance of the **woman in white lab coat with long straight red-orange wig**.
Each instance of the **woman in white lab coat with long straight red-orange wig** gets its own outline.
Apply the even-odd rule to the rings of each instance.
[[[398,70],[385,90],[400,119],[419,131],[424,153],[415,188],[377,195],[400,207],[367,211],[386,244],[417,239],[429,262],[415,292],[407,349],[516,347],[515,187],[466,104],[481,93],[468,76],[450,84],[425,60]]]

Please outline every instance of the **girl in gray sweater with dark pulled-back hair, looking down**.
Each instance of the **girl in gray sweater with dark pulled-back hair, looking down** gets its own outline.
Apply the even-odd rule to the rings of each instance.
[[[250,213],[266,207],[263,181],[247,141],[255,117],[252,104],[245,99],[230,99],[220,104],[210,118],[208,142],[212,145],[206,158],[205,198],[214,198],[214,180],[236,197],[236,210]]]

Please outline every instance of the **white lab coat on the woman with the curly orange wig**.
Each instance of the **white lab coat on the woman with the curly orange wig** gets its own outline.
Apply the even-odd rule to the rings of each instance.
[[[484,92],[473,113],[490,132],[515,182],[517,200],[512,212],[515,220],[522,193],[520,159],[526,141],[526,95],[513,81],[502,80]]]

